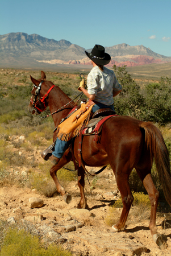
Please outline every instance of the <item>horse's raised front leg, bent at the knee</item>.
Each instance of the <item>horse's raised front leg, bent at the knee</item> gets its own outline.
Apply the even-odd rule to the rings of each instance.
[[[65,192],[65,189],[61,186],[59,180],[57,179],[56,172],[60,170],[63,166],[65,166],[65,164],[69,163],[71,159],[72,159],[72,154],[68,149],[65,151],[65,154],[62,156],[59,163],[57,163],[55,166],[52,166],[49,171],[52,179],[55,182],[57,192],[60,193],[60,195],[62,196],[62,198],[67,204],[69,204],[70,201],[72,200],[72,196],[68,192]]]

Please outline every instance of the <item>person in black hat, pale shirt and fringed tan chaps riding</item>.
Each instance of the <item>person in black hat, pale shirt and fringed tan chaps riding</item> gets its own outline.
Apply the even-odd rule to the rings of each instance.
[[[85,53],[87,57],[89,57],[89,59],[91,60],[93,68],[87,76],[87,88],[85,88],[85,81],[84,79],[82,79],[78,90],[82,91],[85,96],[89,98],[89,100],[91,100],[91,102],[93,101],[93,105],[91,103],[89,111],[94,113],[96,110],[102,108],[111,108],[112,110],[114,110],[113,97],[115,97],[122,91],[122,86],[116,79],[115,73],[110,69],[104,67],[104,65],[110,63],[110,55],[106,53],[105,48],[103,46],[100,46],[99,44],[95,44],[94,48],[90,53],[86,51]],[[85,108],[85,106],[83,106],[83,108]],[[79,112],[80,110],[77,111]],[[84,110],[81,111],[84,113]],[[85,114],[86,112],[82,115],[82,118],[87,117],[88,113],[86,114],[86,117],[84,116]],[[59,125],[61,127],[59,127],[59,130],[57,131],[58,134],[55,144],[55,151],[53,151],[52,155],[48,158],[55,165],[62,158],[62,155],[64,155],[64,152],[69,147],[72,141],[73,133],[71,133],[71,130],[70,132],[66,131],[64,133],[66,127],[70,126],[69,122],[72,123],[71,121],[69,121],[68,118],[63,123],[61,123],[61,125]],[[76,129],[78,125],[81,126],[81,122],[82,121],[80,121],[80,123],[78,122],[76,126],[73,126],[73,129]],[[66,135],[67,133],[70,135]]]

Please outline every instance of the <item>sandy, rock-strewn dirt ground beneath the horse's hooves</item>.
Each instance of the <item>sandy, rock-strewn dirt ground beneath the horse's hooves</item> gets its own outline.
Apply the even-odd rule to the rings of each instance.
[[[34,156],[40,162],[43,161],[40,152],[35,151]],[[18,170],[22,172],[26,168]],[[66,191],[72,195],[70,204],[66,204],[60,195],[48,198],[40,195],[36,189],[0,187],[0,219],[11,224],[26,224],[35,234],[43,236],[44,242],[59,243],[64,249],[72,251],[73,255],[170,256],[171,228],[164,226],[164,217],[157,216],[157,226],[165,240],[164,250],[160,250],[153,242],[148,228],[149,220],[137,223],[130,218],[123,232],[111,232],[110,226],[105,224],[105,218],[110,205],[119,199],[120,194],[112,170],[107,169],[98,177],[98,185],[93,190],[86,185],[89,209],[76,208],[80,201],[77,181],[70,182],[66,187]],[[100,184],[105,184],[105,187],[102,188]],[[39,207],[35,205],[35,208],[31,208],[31,198],[40,199]],[[121,211],[120,208],[116,209],[117,216]],[[169,222],[169,214],[167,218]]]

